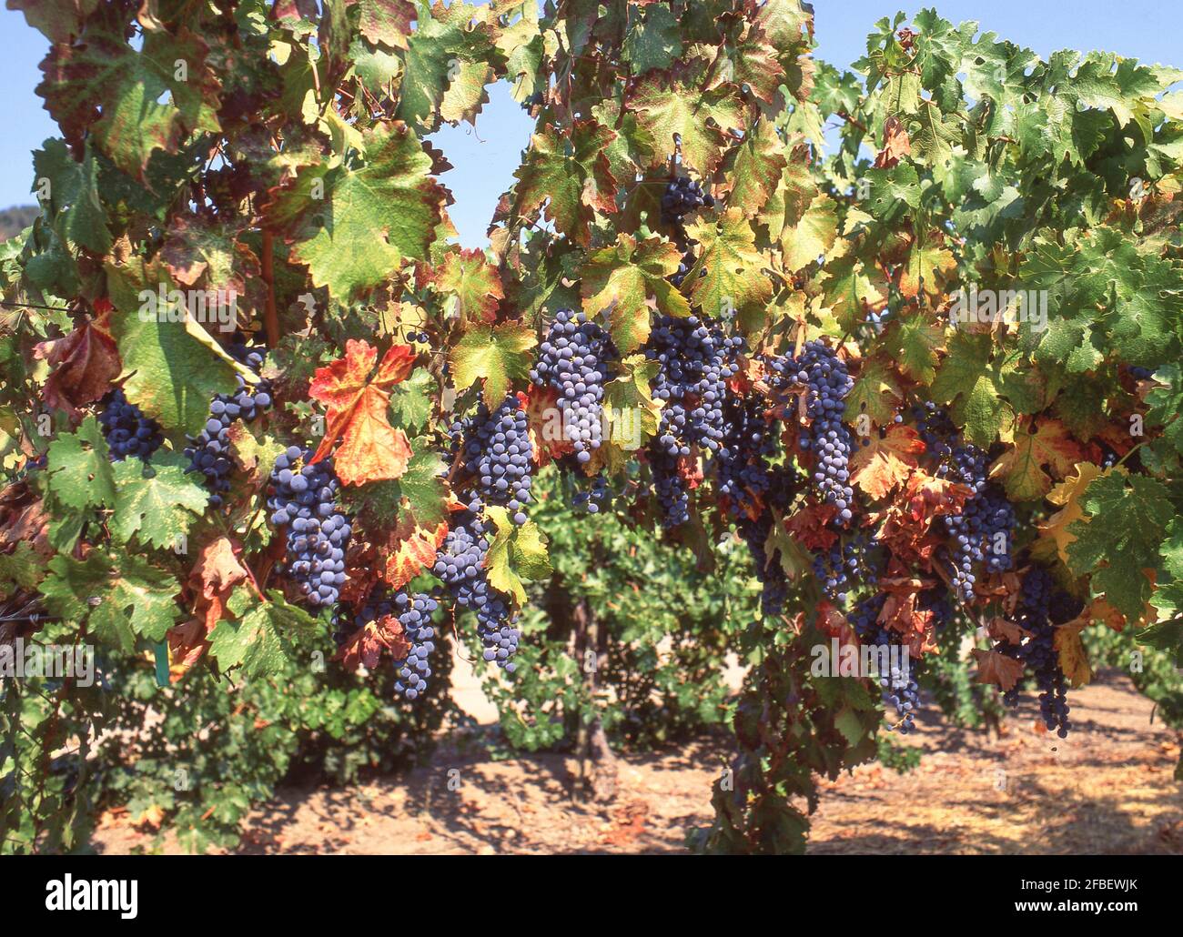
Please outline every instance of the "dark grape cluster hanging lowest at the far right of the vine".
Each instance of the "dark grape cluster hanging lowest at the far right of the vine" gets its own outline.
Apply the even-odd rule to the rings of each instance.
[[[1060,668],[1060,652],[1055,647],[1055,626],[1071,621],[1082,603],[1055,586],[1052,576],[1041,567],[1032,567],[1023,576],[1015,609],[1015,623],[1030,632],[1022,644],[1000,642],[995,651],[1022,661],[1035,678],[1039,689],[1040,715],[1047,730],[1067,738],[1072,723],[1068,720],[1068,689]],[[1006,693],[1007,705],[1019,705],[1019,685]]]

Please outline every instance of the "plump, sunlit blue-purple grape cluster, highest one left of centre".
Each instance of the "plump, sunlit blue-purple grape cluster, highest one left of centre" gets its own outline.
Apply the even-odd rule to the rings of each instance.
[[[597,323],[583,312],[560,309],[538,349],[530,380],[558,392],[563,438],[575,447],[580,464],[600,448],[603,385],[612,380],[616,349]]]

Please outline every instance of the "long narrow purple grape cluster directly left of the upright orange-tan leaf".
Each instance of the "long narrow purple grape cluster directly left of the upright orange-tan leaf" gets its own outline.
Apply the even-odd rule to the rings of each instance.
[[[769,362],[777,375],[774,383],[784,389],[790,383],[804,385],[806,415],[809,425],[801,431],[800,446],[815,460],[813,480],[822,500],[838,509],[846,524],[853,516],[854,490],[851,487],[849,460],[853,450],[851,431],[842,421],[846,398],[854,387],[846,362],[821,340],[807,342],[800,358],[774,358]]]

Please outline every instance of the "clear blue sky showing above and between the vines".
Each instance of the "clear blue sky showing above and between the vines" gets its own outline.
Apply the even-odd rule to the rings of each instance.
[[[1142,62],[1183,66],[1178,43],[1179,8],[1163,0],[953,0],[936,6],[953,22],[978,20],[983,30],[998,33],[1047,58],[1058,49],[1103,49]],[[814,0],[817,54],[839,67],[848,66],[865,51],[871,25],[891,15],[898,6],[883,0]],[[909,7],[910,11],[919,7]],[[38,64],[47,40],[25,24],[21,13],[0,9],[0,88],[5,121],[0,133],[0,207],[28,205],[32,181],[30,154],[56,135],[56,127],[33,93],[40,80]],[[442,181],[457,203],[452,218],[465,246],[485,241],[485,228],[497,198],[509,186],[521,151],[532,128],[530,118],[510,98],[506,85],[491,91],[491,101],[477,119],[445,127],[433,140],[455,167]]]

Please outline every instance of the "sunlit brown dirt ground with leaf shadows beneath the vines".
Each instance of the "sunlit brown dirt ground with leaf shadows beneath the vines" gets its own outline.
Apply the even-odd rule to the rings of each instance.
[[[1069,702],[1067,741],[1037,731],[1029,703],[1001,737],[950,729],[929,707],[905,739],[923,749],[919,768],[900,775],[871,764],[823,783],[809,852],[1183,852],[1175,734],[1151,723],[1151,704],[1120,674]],[[473,709],[487,716],[479,700]],[[618,800],[599,807],[571,800],[571,758],[496,762],[465,748],[446,745],[429,765],[358,788],[283,789],[251,815],[238,852],[685,852],[686,828],[710,822],[710,787],[725,754],[703,741],[626,755]],[[106,853],[150,842],[117,816],[95,839]]]

